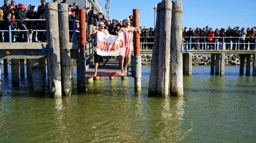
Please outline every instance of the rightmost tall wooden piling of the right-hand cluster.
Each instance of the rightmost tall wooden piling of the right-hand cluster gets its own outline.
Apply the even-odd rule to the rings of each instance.
[[[172,34],[171,34],[171,95],[183,96],[182,69],[182,3],[172,1]]]

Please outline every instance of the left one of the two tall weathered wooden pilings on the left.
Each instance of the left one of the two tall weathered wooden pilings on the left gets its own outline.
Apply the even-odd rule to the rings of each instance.
[[[46,35],[48,45],[48,66],[50,93],[53,97],[62,96],[60,40],[58,25],[58,6],[56,3],[47,3],[45,8]]]

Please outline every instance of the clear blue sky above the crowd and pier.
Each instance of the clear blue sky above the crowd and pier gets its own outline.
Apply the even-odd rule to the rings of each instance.
[[[51,0],[46,0],[47,2]],[[62,0],[58,0],[62,1]],[[102,1],[102,11],[105,11],[106,0]],[[183,27],[203,27],[208,25],[213,29],[227,28],[228,25],[240,27],[256,26],[256,0],[181,0],[183,3]],[[0,1],[3,4],[3,0]],[[39,5],[39,0],[16,0]],[[140,9],[142,26],[154,27],[153,4],[161,0],[111,0],[110,19],[123,20],[132,15],[132,9]]]

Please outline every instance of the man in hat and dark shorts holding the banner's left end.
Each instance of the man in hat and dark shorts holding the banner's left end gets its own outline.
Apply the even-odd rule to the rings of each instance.
[[[93,38],[93,37],[95,38],[94,46],[97,46],[97,33],[99,31],[103,32],[105,34],[109,34],[108,30],[104,29],[104,27],[106,26],[104,24],[104,22],[99,22],[98,25],[99,25],[99,29],[94,30],[93,33],[90,35],[90,38]],[[95,69],[95,71],[94,71],[93,76],[97,76],[97,69],[98,69],[99,64],[101,64],[102,60],[103,60],[103,57],[100,55],[97,55],[97,53],[94,52],[94,69]]]

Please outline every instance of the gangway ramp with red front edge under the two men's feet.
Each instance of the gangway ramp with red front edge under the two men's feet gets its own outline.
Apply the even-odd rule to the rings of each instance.
[[[94,64],[89,65],[89,69],[85,71],[85,77],[93,77]],[[117,58],[110,58],[99,65],[97,70],[97,76],[125,76],[121,73],[121,66]],[[128,72],[126,76],[132,76],[131,72]]]

